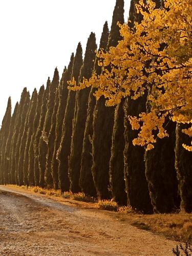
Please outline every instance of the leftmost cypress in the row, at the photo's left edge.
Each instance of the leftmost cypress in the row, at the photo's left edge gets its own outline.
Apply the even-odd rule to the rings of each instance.
[[[4,163],[5,163],[5,152],[6,152],[6,144],[8,140],[9,130],[10,130],[10,123],[11,123],[11,97],[8,99],[7,103],[7,109],[2,121],[2,127],[1,127],[1,141],[0,141],[0,179],[1,184],[6,184],[7,179],[5,179],[7,176],[6,171],[4,169]]]

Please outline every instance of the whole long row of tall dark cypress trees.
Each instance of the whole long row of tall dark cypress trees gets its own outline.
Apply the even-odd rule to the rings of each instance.
[[[155,2],[161,7],[162,1]],[[131,27],[142,20],[137,3],[131,1]],[[111,31],[107,22],[103,26],[100,49],[108,50],[121,39],[117,22],[124,23],[123,8],[124,1],[117,0]],[[172,212],[181,201],[186,211],[192,211],[192,157],[182,147],[188,140],[182,125],[169,122],[170,136],[145,153],[133,146],[137,131],[131,129],[127,116],[147,111],[147,95],[106,107],[104,97],[96,101],[94,88],[67,89],[72,77],[78,83],[93,71],[101,74],[96,49],[91,33],[84,59],[79,43],[61,79],[56,68],[52,81],[48,78],[46,88],[41,86],[38,93],[34,89],[31,98],[24,88],[12,116],[9,98],[0,131],[0,183],[83,191],[100,199],[114,198],[144,213]]]

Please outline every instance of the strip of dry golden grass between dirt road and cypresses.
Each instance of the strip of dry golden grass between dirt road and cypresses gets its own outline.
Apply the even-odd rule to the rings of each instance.
[[[27,188],[27,186],[8,185],[10,187]],[[114,200],[98,200],[97,202],[84,193],[72,194],[71,192],[61,193],[60,190],[43,189],[40,187],[28,187],[30,191],[48,196],[62,197],[84,202],[95,202],[90,207],[104,210],[117,211],[118,219],[127,222],[141,229],[151,230],[152,232],[162,234],[165,237],[180,242],[189,241],[192,243],[192,214],[180,212],[176,214],[137,214],[130,206],[118,207]]]

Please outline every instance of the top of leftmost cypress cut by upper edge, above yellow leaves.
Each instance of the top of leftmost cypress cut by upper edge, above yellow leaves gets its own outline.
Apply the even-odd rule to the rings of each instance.
[[[116,47],[118,40],[121,39],[120,33],[119,33],[119,26],[117,25],[117,22],[120,22],[121,24],[124,23],[124,0],[117,0],[115,9],[113,12],[113,19],[112,19],[112,25],[111,25],[111,31],[108,41],[108,48],[111,46]]]

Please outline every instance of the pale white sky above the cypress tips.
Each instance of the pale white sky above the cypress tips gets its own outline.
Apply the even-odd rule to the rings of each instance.
[[[125,20],[130,1],[125,0]],[[105,20],[111,28],[116,0],[0,0],[0,123],[8,97],[12,111],[24,87],[30,94],[61,76],[81,42],[93,31],[97,46]]]

